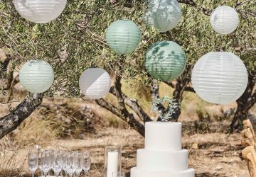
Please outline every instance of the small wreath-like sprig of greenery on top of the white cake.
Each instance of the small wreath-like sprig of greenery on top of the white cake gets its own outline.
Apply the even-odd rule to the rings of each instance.
[[[175,114],[175,110],[178,107],[174,97],[169,96],[154,98],[151,105],[152,112],[157,113],[158,118],[163,122],[171,121],[171,116]],[[159,105],[164,105],[166,109],[159,108]]]

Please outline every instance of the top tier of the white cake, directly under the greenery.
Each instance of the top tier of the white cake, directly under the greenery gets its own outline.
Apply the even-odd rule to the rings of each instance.
[[[146,122],[145,149],[181,150],[181,122]]]

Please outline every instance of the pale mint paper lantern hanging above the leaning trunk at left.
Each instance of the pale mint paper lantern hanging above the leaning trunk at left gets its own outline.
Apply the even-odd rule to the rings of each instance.
[[[43,60],[31,60],[21,67],[19,79],[31,93],[43,93],[53,84],[53,68]]]

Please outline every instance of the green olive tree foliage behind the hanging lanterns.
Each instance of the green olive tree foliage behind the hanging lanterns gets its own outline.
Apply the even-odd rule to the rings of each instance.
[[[230,35],[219,35],[210,27],[210,17],[195,6],[182,4],[178,26],[167,33],[146,26],[142,14],[147,10],[144,1],[103,0],[68,1],[63,14],[50,23],[36,24],[21,18],[9,0],[0,1],[0,48],[10,53],[18,68],[30,59],[44,59],[55,71],[55,82],[48,96],[80,96],[79,76],[89,67],[102,67],[116,73],[123,69],[123,79],[150,78],[144,68],[146,50],[159,40],[174,40],[186,52],[188,64],[210,51],[229,51],[238,55],[248,72],[256,73],[255,8],[253,1],[198,0],[212,11],[220,5],[233,6],[240,13],[240,25]],[[105,30],[117,19],[129,19],[139,25],[142,42],[124,60],[115,55],[105,42]]]

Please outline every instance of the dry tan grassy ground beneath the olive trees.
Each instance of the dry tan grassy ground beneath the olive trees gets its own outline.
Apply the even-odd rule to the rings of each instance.
[[[153,118],[150,89],[135,80],[129,83],[122,81],[122,84],[124,93],[137,99]],[[171,96],[172,91],[166,84],[160,85],[160,96]],[[106,99],[117,105],[117,100],[111,94]],[[11,103],[11,107],[16,105]],[[92,125],[95,131],[86,132],[85,122],[82,121],[87,111],[83,110],[85,107],[90,108],[90,113],[94,115]],[[240,135],[228,137],[223,130],[218,130],[221,126],[225,129],[230,122],[220,115],[234,107],[235,104],[212,105],[202,101],[195,93],[184,93],[180,118],[183,122],[183,147],[189,150],[189,164],[196,169],[198,176],[248,176],[245,161],[240,158]],[[256,112],[256,105],[251,111]],[[8,105],[1,105],[0,116],[8,112]],[[63,120],[70,122],[67,124]],[[90,176],[100,177],[106,145],[122,145],[123,169],[129,172],[136,165],[136,150],[144,147],[144,139],[134,130],[129,130],[126,122],[100,108],[94,101],[45,99],[42,107],[17,130],[0,140],[0,176],[28,175],[27,152],[36,144],[46,149],[90,150],[93,162]],[[8,155],[4,153],[6,151]]]

